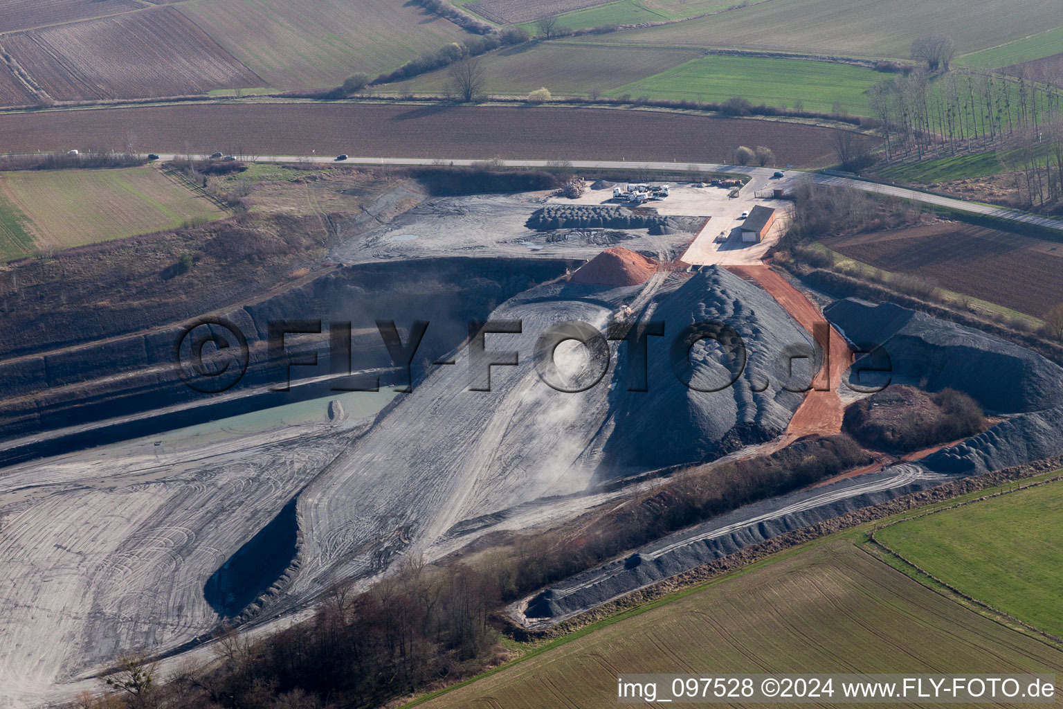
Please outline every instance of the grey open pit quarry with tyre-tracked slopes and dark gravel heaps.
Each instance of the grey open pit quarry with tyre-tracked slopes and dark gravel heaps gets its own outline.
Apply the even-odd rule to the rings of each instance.
[[[720,231],[705,226],[715,218],[711,204],[667,222],[637,215],[637,225],[620,214],[628,222],[608,227],[543,222],[547,205],[541,193],[425,200],[352,231],[330,254],[330,271],[226,310],[253,340],[248,396],[269,382],[261,343],[271,319],[352,321],[352,370],[375,373],[385,389],[399,381],[374,320],[395,320],[404,338],[412,320],[431,321],[412,391],[390,392],[364,412],[352,399],[328,403],[324,388],[316,390],[325,396],[318,413],[296,423],[226,419],[217,429],[137,429],[150,437],[125,440],[114,423],[119,411],[157,413],[145,402],[152,398],[184,405],[166,422],[174,427],[195,421],[207,401],[174,393],[180,383],[167,373],[162,343],[176,325],[123,334],[142,354],[120,362],[117,375],[92,365],[100,350],[91,340],[63,351],[73,364],[81,352],[83,381],[48,379],[56,370],[47,348],[0,362],[26,367],[13,379],[19,388],[0,392],[4,445],[24,453],[0,470],[0,705],[58,703],[98,689],[97,674],[123,652],[175,655],[222,622],[283,622],[337,580],[368,583],[403,555],[438,559],[495,529],[564,520],[623,494],[629,477],[644,482],[787,434],[823,353],[755,280],[677,261]],[[1060,453],[1047,433],[1060,424],[1060,368],[974,331],[879,308],[842,301],[827,317],[851,342],[884,343],[891,355],[895,347],[898,381],[971,390],[1005,420],[923,461],[764,501],[659,540],[526,598],[514,615],[550,625],[784,530]],[[484,332],[470,320],[510,324]],[[643,361],[632,357],[637,338],[624,336],[651,323],[659,331],[645,335]],[[543,336],[562,326],[588,344],[544,347]],[[326,341],[323,334],[299,343]],[[323,355],[300,375],[327,378],[331,364]],[[990,384],[1001,372],[1045,386],[1015,399]],[[27,378],[34,375],[45,378]],[[841,378],[830,382],[840,388]],[[85,388],[98,408],[77,404]],[[254,413],[265,401],[224,416]],[[29,459],[108,422],[117,428],[99,441],[107,445],[86,449],[79,439],[63,455]],[[48,442],[24,449],[36,439]]]

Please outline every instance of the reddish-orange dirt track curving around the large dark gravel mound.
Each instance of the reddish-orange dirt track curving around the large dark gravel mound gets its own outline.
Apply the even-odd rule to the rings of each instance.
[[[813,337],[815,337],[816,323],[820,323],[822,330],[823,324],[827,322],[827,319],[810,300],[769,266],[762,264],[759,266],[727,266],[726,268],[747,281],[757,283],[766,290]],[[841,333],[833,327],[829,327],[826,332],[830,341],[828,343],[821,341],[820,344],[824,347],[824,351],[828,355],[827,362],[812,383],[812,389],[805,394],[804,403],[790,420],[790,425],[786,431],[788,439],[796,439],[810,434],[830,436],[842,429],[845,407],[838,395],[838,388],[842,383],[842,373],[853,364],[853,353]]]

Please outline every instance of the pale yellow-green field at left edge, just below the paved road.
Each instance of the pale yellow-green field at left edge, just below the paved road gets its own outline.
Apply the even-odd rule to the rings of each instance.
[[[9,259],[222,216],[153,167],[0,173],[0,253]]]

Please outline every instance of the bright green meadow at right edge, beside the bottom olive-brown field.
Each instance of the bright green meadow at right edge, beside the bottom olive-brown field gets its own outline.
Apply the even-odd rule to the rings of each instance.
[[[967,595],[1063,637],[1063,483],[881,529],[876,537]]]

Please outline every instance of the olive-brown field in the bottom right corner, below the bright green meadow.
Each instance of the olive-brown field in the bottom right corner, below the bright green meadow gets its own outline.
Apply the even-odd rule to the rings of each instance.
[[[706,668],[719,674],[810,666],[971,673],[1059,672],[1061,663],[1060,651],[839,539],[589,632],[422,706],[606,709],[617,706],[620,674]]]

